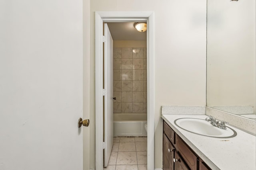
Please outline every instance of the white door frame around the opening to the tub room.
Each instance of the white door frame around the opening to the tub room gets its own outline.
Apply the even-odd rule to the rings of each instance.
[[[147,22],[147,165],[154,167],[154,12],[95,12],[95,162],[103,170],[103,22]]]

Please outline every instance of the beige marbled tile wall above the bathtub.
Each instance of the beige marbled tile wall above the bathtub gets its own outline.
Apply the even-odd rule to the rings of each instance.
[[[147,113],[146,48],[114,48],[114,113]]]

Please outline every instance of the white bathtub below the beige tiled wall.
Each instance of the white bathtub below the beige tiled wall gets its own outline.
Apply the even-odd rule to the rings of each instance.
[[[114,137],[147,136],[146,123],[146,113],[114,113]]]

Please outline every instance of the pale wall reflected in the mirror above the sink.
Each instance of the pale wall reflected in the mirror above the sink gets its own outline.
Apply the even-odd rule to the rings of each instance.
[[[207,105],[256,107],[255,0],[208,0]]]

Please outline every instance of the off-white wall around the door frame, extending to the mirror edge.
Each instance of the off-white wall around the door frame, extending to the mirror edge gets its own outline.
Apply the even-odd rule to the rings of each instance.
[[[94,12],[155,13],[155,168],[162,168],[162,105],[206,105],[206,0],[92,0],[90,2],[90,90],[94,89]],[[90,106],[95,106],[91,96]],[[91,110],[90,120],[95,121]],[[92,128],[92,127],[91,127]],[[90,143],[95,137],[90,136]],[[93,149],[92,149],[93,150]],[[90,152],[90,156],[95,154]],[[90,161],[93,168],[95,162]]]

